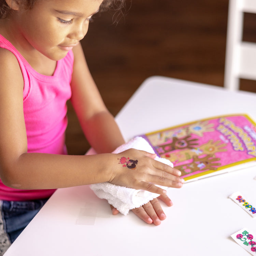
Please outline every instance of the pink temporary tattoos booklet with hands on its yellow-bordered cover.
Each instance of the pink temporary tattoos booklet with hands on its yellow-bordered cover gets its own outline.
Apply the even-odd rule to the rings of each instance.
[[[256,166],[256,124],[246,114],[201,119],[141,136],[186,182]]]

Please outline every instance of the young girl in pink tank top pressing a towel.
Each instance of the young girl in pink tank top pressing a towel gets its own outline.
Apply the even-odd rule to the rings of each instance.
[[[180,171],[124,143],[88,70],[79,43],[91,17],[124,0],[0,0],[0,243],[2,253],[56,188],[111,182],[158,193],[179,188]],[[71,99],[97,155],[68,155],[66,101]],[[118,164],[137,161],[136,170]],[[113,209],[113,214],[118,211]],[[165,219],[157,199],[133,210],[147,223]]]

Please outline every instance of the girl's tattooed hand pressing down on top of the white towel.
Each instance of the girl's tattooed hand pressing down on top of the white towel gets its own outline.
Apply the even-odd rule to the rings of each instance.
[[[119,154],[112,154],[112,172],[110,183],[115,185],[144,189],[159,195],[166,195],[166,190],[156,185],[181,188],[184,180],[181,172],[153,158],[156,154],[129,149]],[[114,163],[114,164],[113,164]]]

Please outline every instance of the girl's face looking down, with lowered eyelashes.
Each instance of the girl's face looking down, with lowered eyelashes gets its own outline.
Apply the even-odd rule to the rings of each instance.
[[[22,48],[35,49],[52,60],[65,57],[84,38],[102,1],[38,0],[32,10],[15,12]]]

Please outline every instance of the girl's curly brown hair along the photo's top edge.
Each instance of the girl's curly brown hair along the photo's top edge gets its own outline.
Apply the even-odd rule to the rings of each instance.
[[[24,0],[23,5],[26,9],[32,9],[34,3],[38,0]],[[115,11],[120,11],[125,7],[125,0],[103,0],[100,5],[100,12],[106,11],[108,9],[113,9]],[[6,18],[11,12],[11,8],[5,2],[5,0],[0,0],[0,19]]]

